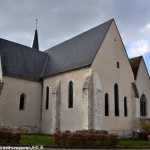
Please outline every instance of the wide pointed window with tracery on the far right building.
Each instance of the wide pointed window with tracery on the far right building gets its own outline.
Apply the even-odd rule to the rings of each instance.
[[[141,116],[147,115],[147,100],[144,94],[142,94],[140,99],[140,115]]]

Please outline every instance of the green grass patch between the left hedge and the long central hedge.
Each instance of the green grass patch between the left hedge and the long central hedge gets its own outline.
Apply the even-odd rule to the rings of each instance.
[[[22,135],[20,144],[52,146],[53,138],[51,135],[45,135],[45,134],[24,134]]]

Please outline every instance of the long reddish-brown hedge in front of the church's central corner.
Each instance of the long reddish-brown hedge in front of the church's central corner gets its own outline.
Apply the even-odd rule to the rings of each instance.
[[[118,136],[107,131],[81,130],[54,134],[54,144],[58,146],[116,147]]]

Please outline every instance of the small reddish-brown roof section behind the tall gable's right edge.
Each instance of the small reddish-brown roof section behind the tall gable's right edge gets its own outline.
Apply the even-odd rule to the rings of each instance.
[[[142,58],[143,58],[142,56],[139,56],[139,57],[130,59],[130,64],[131,64],[131,67],[133,70],[134,79],[136,79],[136,77],[137,77],[137,73],[138,73],[140,62],[141,62]]]

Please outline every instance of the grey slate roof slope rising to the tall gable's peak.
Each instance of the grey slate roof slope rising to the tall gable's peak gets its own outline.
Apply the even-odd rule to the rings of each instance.
[[[49,60],[43,76],[91,65],[112,21],[113,19],[46,50]]]

